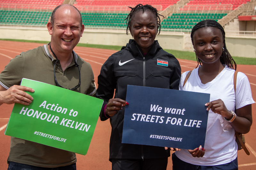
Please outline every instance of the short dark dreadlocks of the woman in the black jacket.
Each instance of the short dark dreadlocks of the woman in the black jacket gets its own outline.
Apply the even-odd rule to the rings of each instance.
[[[128,30],[129,30],[129,26],[131,26],[131,18],[134,16],[135,13],[137,13],[138,11],[144,11],[145,10],[149,10],[151,11],[153,14],[156,15],[156,19],[157,19],[157,25],[159,26],[159,33],[158,35],[160,34],[160,31],[161,31],[161,20],[160,20],[160,17],[159,16],[162,16],[164,17],[163,15],[160,15],[157,13],[157,9],[154,8],[153,6],[151,5],[142,5],[142,4],[138,4],[136,5],[134,8],[128,6],[129,8],[131,8],[131,12],[128,14],[127,18],[125,18],[124,20],[126,20],[126,25],[127,25],[127,28],[126,28],[126,34],[128,35]],[[157,30],[158,32],[158,30]]]

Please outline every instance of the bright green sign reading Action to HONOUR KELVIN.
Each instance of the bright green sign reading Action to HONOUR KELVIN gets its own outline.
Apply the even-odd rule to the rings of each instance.
[[[4,134],[85,155],[103,100],[25,78],[21,85],[34,100],[15,103]]]

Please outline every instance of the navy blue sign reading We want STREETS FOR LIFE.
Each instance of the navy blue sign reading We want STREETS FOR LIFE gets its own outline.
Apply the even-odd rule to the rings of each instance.
[[[127,86],[122,143],[204,147],[210,94]]]

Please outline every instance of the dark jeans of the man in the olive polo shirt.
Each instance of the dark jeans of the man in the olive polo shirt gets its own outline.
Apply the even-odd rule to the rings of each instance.
[[[68,166],[60,166],[56,168],[44,168],[44,167],[20,164],[17,162],[10,161],[8,170],[76,170],[76,163]]]

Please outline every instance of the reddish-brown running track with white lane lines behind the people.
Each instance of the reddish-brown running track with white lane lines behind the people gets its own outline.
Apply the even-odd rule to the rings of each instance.
[[[42,46],[39,43],[25,43],[13,41],[0,41],[0,71],[4,70],[10,59],[19,55],[22,51]],[[115,50],[96,49],[76,47],[76,53],[86,62],[90,63],[94,72],[95,83],[97,85],[97,77],[100,74],[101,65],[107,60],[108,56],[116,52]],[[196,62],[179,59],[182,72],[192,70],[196,67]],[[237,71],[241,71],[249,78],[252,97],[256,100],[256,65],[238,65]],[[0,169],[7,170],[7,158],[10,152],[10,138],[4,135],[4,130],[8,119],[11,115],[13,105],[3,104],[0,106]],[[252,105],[253,120],[256,120],[256,104]],[[101,122],[98,120],[92,142],[87,155],[77,154],[78,170],[105,170],[111,169],[111,163],[108,161],[109,154],[109,137],[110,137],[109,121]],[[250,151],[247,156],[243,150],[238,151],[239,170],[256,169],[256,124],[252,124],[251,131],[245,135],[246,145]],[[217,137],[217,136],[216,136]],[[172,169],[172,159],[169,158],[168,168]]]

